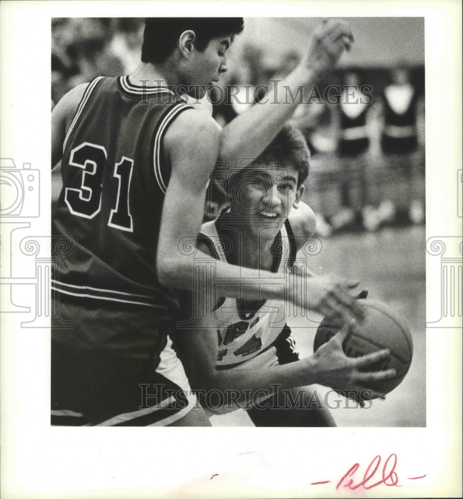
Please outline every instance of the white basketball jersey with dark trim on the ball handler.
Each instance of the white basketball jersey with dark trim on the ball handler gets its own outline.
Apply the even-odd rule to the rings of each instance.
[[[288,221],[286,223],[289,225]],[[227,261],[215,221],[203,224],[200,235],[210,240],[216,258]],[[277,272],[292,264],[296,250],[285,226],[275,238],[272,252],[274,259],[279,260]],[[274,269],[275,266],[274,260]],[[215,311],[219,346],[216,367],[231,367],[259,355],[275,341],[286,324],[285,303],[280,300],[256,300],[245,305],[239,301],[222,298],[221,305]]]

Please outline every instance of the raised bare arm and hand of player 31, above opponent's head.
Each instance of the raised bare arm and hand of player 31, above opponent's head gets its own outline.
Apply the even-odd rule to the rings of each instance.
[[[292,116],[300,92],[310,95],[312,86],[333,69],[354,41],[349,24],[340,19],[321,23],[312,33],[299,65],[271,86],[261,102],[238,115],[220,136],[219,159],[234,165],[238,158],[255,158],[275,138]],[[291,97],[292,96],[292,97]]]

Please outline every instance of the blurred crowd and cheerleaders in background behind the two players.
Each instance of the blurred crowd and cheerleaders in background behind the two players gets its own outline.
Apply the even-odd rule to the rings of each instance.
[[[252,90],[296,67],[319,21],[245,18],[221,85],[248,86],[261,99],[265,91]],[[322,98],[300,104],[292,119],[312,153],[303,200],[316,212],[324,237],[425,222],[424,20],[349,21],[353,50],[317,85]],[[79,83],[129,74],[139,64],[142,18],[53,18],[51,33],[53,103]],[[323,98],[329,85],[341,88],[335,103]],[[227,102],[226,93],[213,97],[221,125],[253,104]]]

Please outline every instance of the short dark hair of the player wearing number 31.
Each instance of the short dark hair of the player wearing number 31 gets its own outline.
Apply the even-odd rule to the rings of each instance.
[[[239,34],[243,27],[242,17],[147,17],[141,61],[164,62],[188,29],[195,32],[195,48],[202,52],[212,38]]]

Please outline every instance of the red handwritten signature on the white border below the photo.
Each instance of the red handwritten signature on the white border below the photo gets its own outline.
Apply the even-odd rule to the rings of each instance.
[[[402,487],[399,485],[399,476],[396,472],[397,466],[397,455],[391,454],[383,464],[383,468],[381,471],[378,471],[381,465],[381,456],[375,456],[372,462],[368,465],[365,470],[363,479],[356,483],[356,472],[359,470],[359,463],[355,463],[349,471],[343,475],[341,480],[336,485],[336,490],[341,488],[348,488],[351,491],[355,491],[360,487],[363,487],[366,490],[373,489],[374,487],[378,487],[383,484],[387,487]],[[420,478],[425,478],[426,475],[422,475],[420,477],[409,477],[408,480],[418,480]],[[331,480],[324,480],[321,482],[312,482],[310,485],[322,485],[329,484]]]

